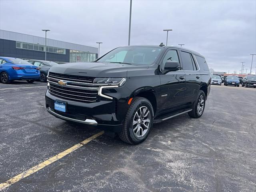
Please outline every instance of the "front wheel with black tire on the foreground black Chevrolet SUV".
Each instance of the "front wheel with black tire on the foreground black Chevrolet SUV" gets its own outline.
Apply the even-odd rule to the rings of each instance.
[[[143,124],[143,118],[140,118],[139,116],[142,116],[142,114],[139,115],[139,110],[142,109],[144,111],[144,113],[148,114],[147,110],[149,111],[149,114],[147,115],[147,119],[148,116],[150,117],[150,122],[144,122],[147,123],[148,128],[144,129],[146,130],[145,133],[143,133],[143,130],[141,132],[141,129],[138,131],[139,127],[136,129],[136,124],[133,125],[134,119],[136,117],[139,118],[138,121],[135,120],[135,122],[137,122],[137,125],[140,125],[142,122],[142,126],[140,126],[142,129],[145,128],[146,126]],[[142,121],[141,121],[142,120]],[[146,98],[142,98],[142,97],[134,97],[132,100],[132,104],[130,104],[130,107],[128,108],[125,120],[124,120],[124,125],[122,127],[122,131],[120,133],[118,133],[118,136],[120,137],[120,139],[126,143],[129,144],[139,144],[141,142],[143,142],[144,140],[146,140],[146,138],[149,135],[150,132],[150,128],[153,125],[153,120],[154,120],[154,110],[153,107],[150,103],[149,100],[147,100]],[[134,128],[135,126],[135,128]],[[136,133],[134,133],[134,130],[137,130],[137,133],[140,134],[142,133],[142,136],[137,136]]]

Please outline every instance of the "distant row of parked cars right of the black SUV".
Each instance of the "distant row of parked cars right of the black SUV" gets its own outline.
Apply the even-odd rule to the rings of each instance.
[[[212,75],[211,84],[221,85],[222,79],[220,75]],[[246,86],[256,88],[256,76],[248,75],[244,78],[234,75],[224,76],[225,86],[232,85],[239,87],[240,84],[242,84],[242,87]]]

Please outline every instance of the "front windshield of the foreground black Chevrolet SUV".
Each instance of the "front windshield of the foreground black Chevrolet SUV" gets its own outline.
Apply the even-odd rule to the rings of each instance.
[[[97,62],[150,65],[154,63],[162,49],[160,47],[119,47],[97,60]]]

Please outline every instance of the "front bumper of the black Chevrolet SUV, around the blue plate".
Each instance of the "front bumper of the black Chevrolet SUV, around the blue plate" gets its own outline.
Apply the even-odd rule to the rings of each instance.
[[[67,103],[67,112],[54,109],[55,100]],[[128,104],[118,100],[100,100],[99,102],[83,103],[58,98],[48,90],[45,95],[47,111],[62,120],[70,120],[94,126],[101,130],[121,132],[128,109]]]

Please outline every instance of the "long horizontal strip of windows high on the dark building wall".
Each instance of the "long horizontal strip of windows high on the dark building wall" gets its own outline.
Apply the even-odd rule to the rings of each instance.
[[[19,41],[16,41],[16,48],[30,49],[30,50],[35,50],[35,51],[45,51],[44,45],[25,43],[25,42],[19,42]],[[66,54],[66,49],[46,46],[46,52]]]

